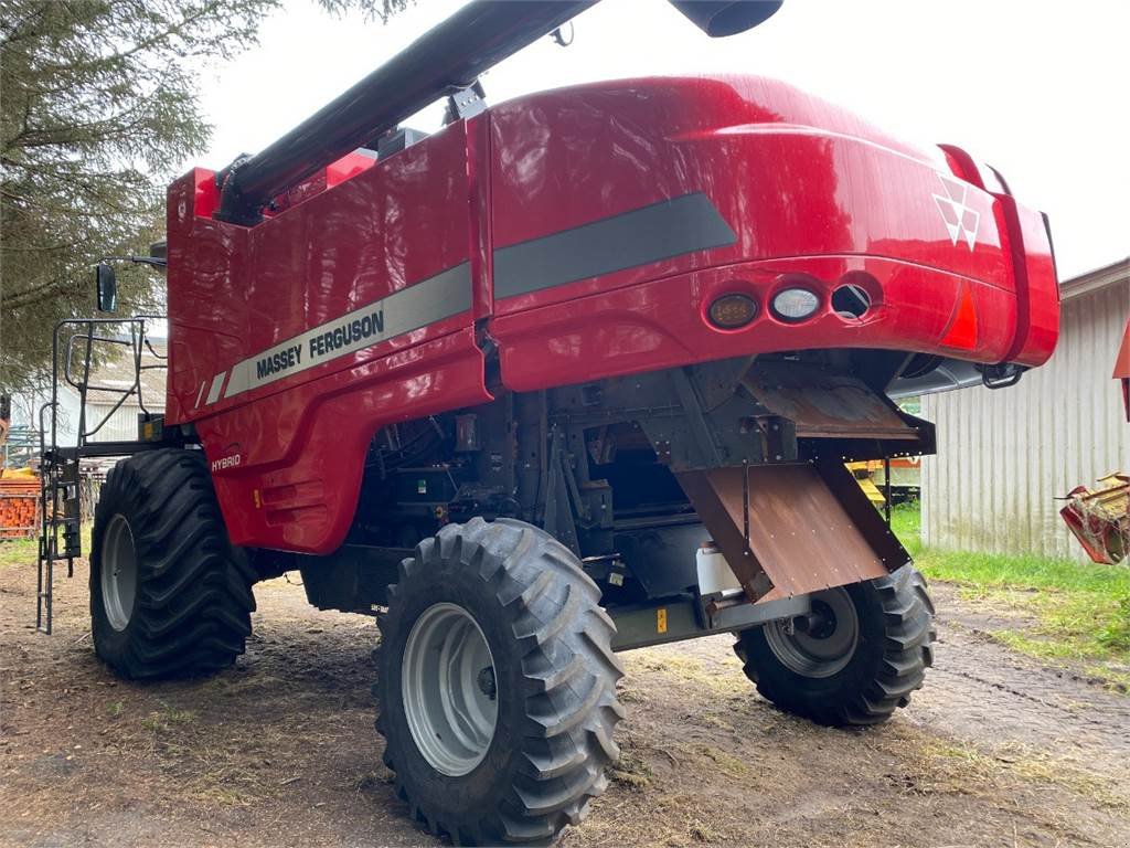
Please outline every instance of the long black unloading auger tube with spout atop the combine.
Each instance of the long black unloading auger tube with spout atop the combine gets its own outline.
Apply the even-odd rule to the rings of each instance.
[[[757,26],[781,0],[670,0],[711,36]],[[375,144],[440,97],[473,85],[503,59],[551,33],[597,0],[473,0],[266,149],[217,174],[216,217],[251,225],[272,198],[319,168]]]

